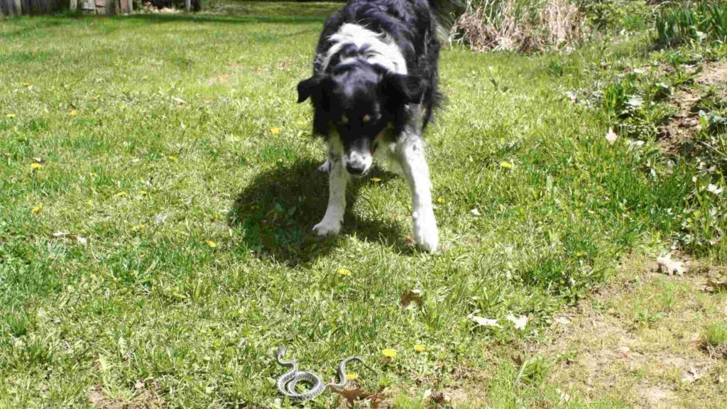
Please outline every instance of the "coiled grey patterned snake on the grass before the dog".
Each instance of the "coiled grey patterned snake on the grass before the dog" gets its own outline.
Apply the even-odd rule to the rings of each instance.
[[[278,376],[278,379],[276,380],[276,387],[278,388],[278,392],[280,392],[283,396],[288,397],[288,399],[292,402],[304,402],[306,400],[314,399],[326,390],[326,386],[334,392],[342,392],[348,383],[348,379],[346,378],[346,365],[348,365],[348,362],[358,361],[361,365],[364,365],[366,369],[371,370],[374,373],[376,372],[376,370],[369,367],[369,365],[366,365],[364,360],[361,360],[360,357],[348,357],[341,360],[338,364],[338,383],[334,384],[331,382],[326,385],[323,383],[323,380],[321,380],[321,377],[315,373],[307,370],[298,370],[298,364],[295,360],[284,361],[283,357],[285,356],[285,352],[286,348],[284,346],[279,346],[278,354],[276,354],[276,360],[278,361],[278,365],[289,367],[290,370],[283,375]],[[300,382],[308,384],[310,389],[305,392],[297,392],[295,390],[295,386]]]

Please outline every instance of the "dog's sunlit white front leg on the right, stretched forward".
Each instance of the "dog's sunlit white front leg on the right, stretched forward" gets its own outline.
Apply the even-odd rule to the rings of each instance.
[[[402,135],[397,151],[406,183],[411,188],[414,239],[422,250],[434,253],[439,243],[439,232],[432,207],[432,183],[424,154],[424,140],[413,133]]]

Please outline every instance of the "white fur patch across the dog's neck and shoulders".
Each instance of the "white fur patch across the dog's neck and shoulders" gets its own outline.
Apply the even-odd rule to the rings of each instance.
[[[387,70],[395,74],[406,74],[406,60],[399,49],[398,45],[390,36],[381,33],[375,33],[358,24],[346,23],[339,28],[337,33],[329,39],[333,43],[328,49],[326,55],[319,56],[321,58],[321,71],[326,71],[331,58],[341,51],[348,44],[355,45],[358,49],[366,47],[366,53],[358,57],[351,57],[342,60],[356,60],[356,58],[364,58],[371,64],[381,65]]]

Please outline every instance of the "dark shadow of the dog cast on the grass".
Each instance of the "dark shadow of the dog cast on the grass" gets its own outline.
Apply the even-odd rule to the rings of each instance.
[[[320,163],[297,162],[262,172],[242,191],[230,210],[229,223],[240,229],[246,250],[260,258],[273,258],[291,265],[308,263],[337,247],[341,236],[318,237],[313,226],[321,221],[328,204],[328,174],[317,170]],[[369,178],[348,183],[347,202],[353,203],[363,183],[386,183],[393,178],[374,168]],[[342,235],[382,242],[399,251],[410,251],[401,226],[395,221],[358,218],[348,210]]]

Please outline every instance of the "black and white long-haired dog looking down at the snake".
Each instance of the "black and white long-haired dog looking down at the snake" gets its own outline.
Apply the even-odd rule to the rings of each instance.
[[[422,140],[439,96],[436,20],[427,0],[349,0],[326,20],[313,76],[298,84],[328,147],[329,202],[316,233],[340,231],[348,178],[365,175],[376,156],[409,183],[417,244],[437,250]]]

